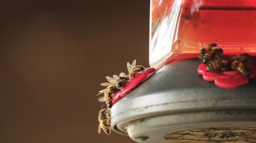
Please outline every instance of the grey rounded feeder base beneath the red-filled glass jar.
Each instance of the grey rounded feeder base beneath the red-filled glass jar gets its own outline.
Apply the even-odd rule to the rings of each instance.
[[[172,62],[115,103],[113,130],[143,143],[256,142],[256,80],[217,87],[197,73],[199,64]]]

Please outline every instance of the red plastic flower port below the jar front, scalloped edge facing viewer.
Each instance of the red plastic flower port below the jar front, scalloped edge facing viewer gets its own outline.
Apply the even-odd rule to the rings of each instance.
[[[237,88],[242,85],[246,85],[249,83],[249,79],[253,79],[256,77],[256,66],[252,62],[243,62],[250,71],[250,77],[245,77],[238,71],[206,71],[206,67],[208,64],[200,64],[198,66],[198,73],[203,75],[203,79],[206,81],[214,81],[215,85],[223,88]]]

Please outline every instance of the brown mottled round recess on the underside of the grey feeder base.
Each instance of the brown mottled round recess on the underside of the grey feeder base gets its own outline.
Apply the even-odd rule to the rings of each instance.
[[[256,128],[207,128],[166,135],[169,142],[255,142]]]

